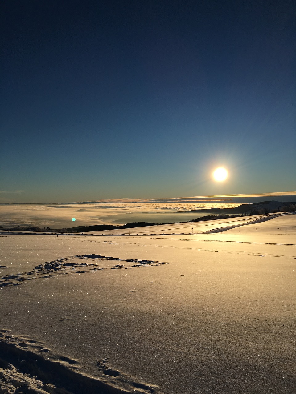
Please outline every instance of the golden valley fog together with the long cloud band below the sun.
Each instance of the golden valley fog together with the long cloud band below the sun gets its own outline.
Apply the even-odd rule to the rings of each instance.
[[[234,208],[239,204],[266,200],[296,201],[295,192],[281,195],[274,193],[272,196],[270,194],[272,193],[249,195],[249,197],[248,195],[185,197],[163,199],[161,202],[159,200],[125,200],[120,203],[112,200],[112,202],[93,201],[67,204],[2,204],[0,205],[0,225],[2,227],[20,225],[62,229],[99,224],[122,225],[136,221],[172,223],[205,215],[204,213],[184,212],[187,210],[212,207]],[[73,217],[75,221],[72,221]]]

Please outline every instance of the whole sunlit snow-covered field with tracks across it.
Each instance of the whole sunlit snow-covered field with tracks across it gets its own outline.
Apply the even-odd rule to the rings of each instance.
[[[295,244],[295,214],[0,232],[0,392],[296,392]]]

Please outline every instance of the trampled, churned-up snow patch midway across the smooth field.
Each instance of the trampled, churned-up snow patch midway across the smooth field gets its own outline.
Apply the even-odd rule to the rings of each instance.
[[[79,260],[87,260],[86,263],[80,263]],[[100,265],[92,261],[98,260]],[[118,264],[114,264],[118,262]],[[158,262],[153,260],[137,260],[135,258],[121,259],[111,256],[101,255],[78,255],[58,258],[54,261],[47,261],[39,266],[36,266],[32,271],[20,272],[17,274],[8,274],[0,278],[0,287],[3,286],[18,286],[24,282],[38,278],[50,278],[54,275],[60,274],[75,274],[98,271],[100,269],[121,269],[134,268],[145,266],[159,266],[161,264],[169,264],[165,262]]]

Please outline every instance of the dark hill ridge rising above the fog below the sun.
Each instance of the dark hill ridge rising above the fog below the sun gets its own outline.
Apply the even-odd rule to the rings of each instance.
[[[281,209],[282,206],[289,206],[289,205],[295,205],[296,203],[290,202],[290,201],[262,201],[260,203],[253,203],[253,204],[241,204],[239,206],[236,206],[235,208],[201,208],[201,209],[192,209],[189,211],[177,211],[175,212],[176,214],[178,213],[184,213],[184,212],[207,212],[207,213],[230,213],[230,214],[245,214],[251,212],[251,210],[256,209],[268,209],[270,211],[273,211],[275,209]]]

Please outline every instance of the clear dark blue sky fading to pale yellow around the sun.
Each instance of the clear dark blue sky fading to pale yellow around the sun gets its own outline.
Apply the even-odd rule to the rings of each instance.
[[[295,190],[294,1],[0,7],[0,202]]]

